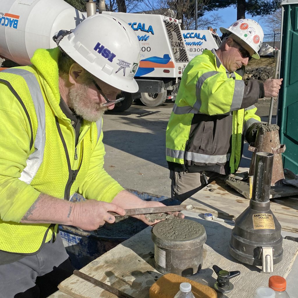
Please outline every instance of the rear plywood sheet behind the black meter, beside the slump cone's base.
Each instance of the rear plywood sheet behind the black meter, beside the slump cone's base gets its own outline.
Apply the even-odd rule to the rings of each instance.
[[[183,204],[193,204],[194,212],[210,212],[220,218],[236,219],[248,206],[249,200],[217,179],[188,198]],[[214,190],[214,191],[210,191]],[[298,232],[298,198],[271,199],[271,211],[285,231]]]

